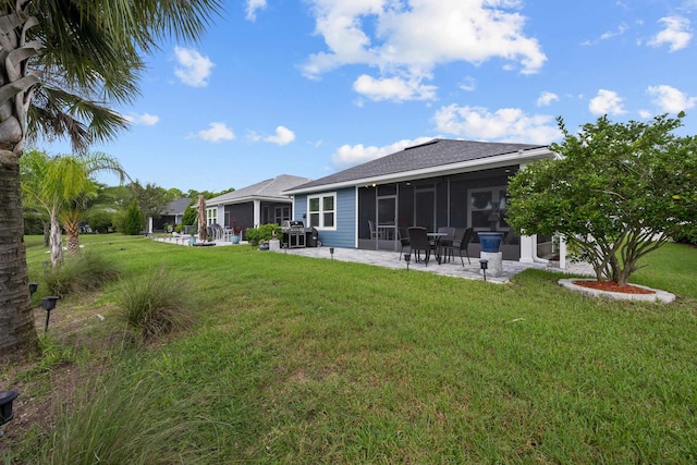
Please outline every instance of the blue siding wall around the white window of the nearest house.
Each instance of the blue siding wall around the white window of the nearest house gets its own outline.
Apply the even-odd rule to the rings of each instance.
[[[319,241],[322,247],[356,247],[356,189],[348,187],[337,193],[337,230],[319,231]],[[317,193],[323,194],[323,193]],[[313,194],[313,196],[316,194]],[[293,217],[296,220],[307,219],[303,215],[307,213],[307,195],[296,195],[293,205]]]

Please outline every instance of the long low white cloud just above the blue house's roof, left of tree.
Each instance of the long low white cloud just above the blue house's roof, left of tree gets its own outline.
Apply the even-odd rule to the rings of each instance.
[[[442,107],[433,117],[436,129],[476,140],[550,144],[561,136],[554,118],[525,114],[519,108],[501,108],[493,113],[481,107]]]

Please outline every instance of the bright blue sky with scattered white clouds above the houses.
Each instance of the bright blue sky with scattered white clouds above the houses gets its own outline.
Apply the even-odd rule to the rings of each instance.
[[[131,129],[94,149],[185,192],[433,137],[549,144],[559,115],[573,131],[684,110],[697,134],[696,28],[697,0],[229,0],[199,42],[149,57],[118,108]]]

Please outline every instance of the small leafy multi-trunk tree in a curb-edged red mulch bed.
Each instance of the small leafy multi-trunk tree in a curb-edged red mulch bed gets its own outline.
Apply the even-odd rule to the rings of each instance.
[[[602,117],[576,134],[558,119],[564,140],[550,149],[562,158],[511,180],[506,221],[522,234],[564,234],[598,280],[626,284],[641,257],[697,224],[697,137],[673,134],[682,118]]]

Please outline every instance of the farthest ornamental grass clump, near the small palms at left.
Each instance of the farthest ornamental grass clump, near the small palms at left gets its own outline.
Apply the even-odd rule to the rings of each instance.
[[[64,297],[68,294],[99,289],[120,274],[119,267],[105,256],[83,250],[68,257],[62,266],[49,269],[44,274],[44,281],[49,294]]]

